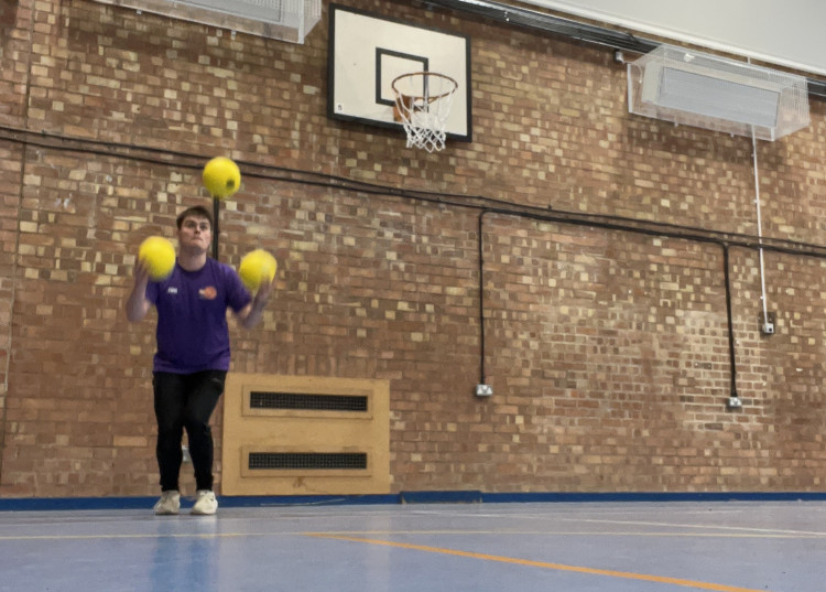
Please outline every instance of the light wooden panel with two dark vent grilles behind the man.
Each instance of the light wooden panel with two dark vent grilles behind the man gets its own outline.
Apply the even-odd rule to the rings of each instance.
[[[252,408],[252,392],[365,397],[366,410]],[[222,495],[361,495],[390,492],[387,380],[236,374],[227,376]],[[254,453],[363,453],[359,469],[250,469]]]

